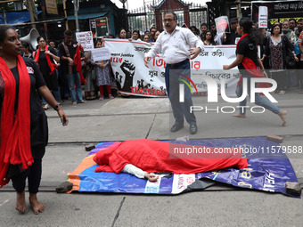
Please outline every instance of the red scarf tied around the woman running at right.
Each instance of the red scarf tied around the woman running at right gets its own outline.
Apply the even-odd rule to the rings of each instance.
[[[248,33],[244,34],[240,40],[237,43],[236,46],[236,53],[238,53],[238,45],[240,43],[240,41],[246,37],[246,36],[250,36]],[[242,59],[242,65],[244,67],[244,69],[247,70],[247,72],[250,74],[251,77],[264,77],[260,71],[260,68],[258,66],[256,66],[255,62],[252,61],[251,59],[244,57]],[[237,86],[239,86],[242,82],[242,76],[240,77]],[[258,83],[258,87],[269,87],[268,83]]]

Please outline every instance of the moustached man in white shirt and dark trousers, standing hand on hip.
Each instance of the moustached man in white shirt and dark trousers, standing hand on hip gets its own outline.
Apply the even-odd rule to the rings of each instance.
[[[180,79],[190,83],[186,77],[191,77],[191,66],[189,59],[194,59],[203,49],[203,43],[188,28],[177,27],[177,16],[175,12],[164,13],[164,24],[166,30],[160,34],[155,45],[149,53],[145,54],[144,64],[147,68],[148,62],[157,54],[162,53],[166,61],[165,83],[168,98],[173,109],[175,125],[170,132],[175,133],[184,127],[184,118],[190,125],[190,133],[197,133],[196,118],[191,112],[192,94],[190,88],[184,85],[184,102],[179,101]],[[191,46],[195,48],[190,52]],[[191,57],[192,56],[192,57]],[[185,77],[184,77],[185,76]]]

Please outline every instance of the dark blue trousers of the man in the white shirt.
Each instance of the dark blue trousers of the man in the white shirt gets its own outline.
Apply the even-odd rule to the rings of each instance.
[[[173,115],[175,118],[176,125],[184,124],[184,117],[188,124],[196,124],[196,117],[193,112],[190,112],[192,106],[192,93],[190,88],[180,81],[185,80],[188,84],[190,83],[185,77],[191,77],[190,62],[185,63],[177,68],[170,68],[168,65],[165,69],[165,84],[167,87],[168,98],[173,109]],[[179,84],[184,84],[184,102],[179,101]]]

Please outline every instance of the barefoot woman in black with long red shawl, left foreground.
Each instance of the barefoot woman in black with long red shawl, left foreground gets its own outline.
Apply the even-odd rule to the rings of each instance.
[[[63,126],[68,118],[45,85],[35,61],[20,56],[18,33],[0,27],[0,188],[12,179],[17,191],[16,209],[26,211],[25,184],[29,179],[29,203],[35,214],[45,205],[37,200],[41,160],[48,139],[47,118],[38,93],[58,112]]]

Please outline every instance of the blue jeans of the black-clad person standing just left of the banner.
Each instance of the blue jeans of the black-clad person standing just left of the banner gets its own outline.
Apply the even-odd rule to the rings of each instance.
[[[80,75],[78,72],[73,74],[68,74],[69,87],[70,87],[70,97],[72,102],[81,102],[82,99],[82,87],[80,81]],[[75,90],[76,85],[76,90]]]

